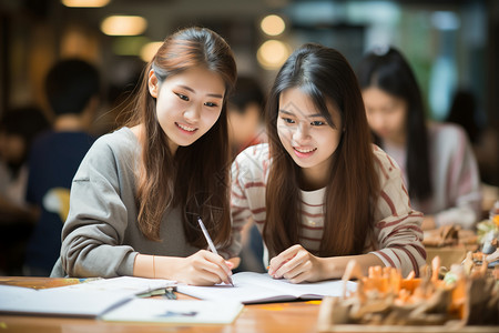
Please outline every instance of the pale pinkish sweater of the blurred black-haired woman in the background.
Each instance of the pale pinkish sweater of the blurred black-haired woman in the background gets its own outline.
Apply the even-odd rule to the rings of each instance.
[[[429,123],[428,140],[432,195],[413,206],[434,215],[437,228],[459,224],[472,229],[481,215],[481,188],[478,164],[466,132],[450,123]],[[397,161],[408,183],[406,148],[384,143],[385,150]]]

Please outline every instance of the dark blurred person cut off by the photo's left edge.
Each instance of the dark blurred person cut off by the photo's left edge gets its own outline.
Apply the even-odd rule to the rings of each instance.
[[[28,152],[35,135],[49,128],[42,111],[26,107],[0,120],[0,275],[21,275],[26,243],[37,211],[24,198]]]

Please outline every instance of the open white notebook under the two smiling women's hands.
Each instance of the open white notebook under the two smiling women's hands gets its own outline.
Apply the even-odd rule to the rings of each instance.
[[[294,284],[287,280],[275,280],[267,273],[241,272],[232,275],[234,286],[217,284],[195,286],[179,284],[177,291],[201,300],[231,300],[244,304],[287,302],[293,300],[320,300],[325,296],[342,296],[344,287],[355,292],[357,283],[353,281],[329,280],[315,283]]]

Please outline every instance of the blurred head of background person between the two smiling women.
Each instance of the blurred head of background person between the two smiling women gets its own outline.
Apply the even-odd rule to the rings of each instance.
[[[266,141],[264,119],[265,94],[251,77],[238,77],[228,99],[228,139],[233,157],[249,145]]]

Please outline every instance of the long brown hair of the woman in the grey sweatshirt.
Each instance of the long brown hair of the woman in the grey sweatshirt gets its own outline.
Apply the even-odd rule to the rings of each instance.
[[[156,120],[155,99],[149,92],[147,73],[153,69],[162,82],[170,75],[195,67],[204,67],[224,80],[226,89],[222,112],[210,131],[191,145],[179,147],[172,155],[167,137]],[[208,230],[216,231],[212,232],[216,244],[228,241],[231,218],[226,100],[235,84],[236,74],[234,56],[225,40],[212,30],[196,27],[167,37],[145,67],[135,95],[135,113],[128,125],[142,123],[145,128],[136,200],[139,228],[147,239],[159,240],[164,212],[180,208],[184,212],[183,225],[190,244],[206,246],[197,225],[197,215]],[[216,208],[216,212],[213,208]]]

